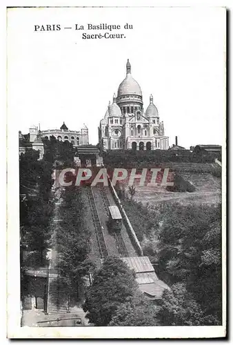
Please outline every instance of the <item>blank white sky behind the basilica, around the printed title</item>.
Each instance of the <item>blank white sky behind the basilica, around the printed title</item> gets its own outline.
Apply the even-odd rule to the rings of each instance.
[[[120,25],[87,30],[88,23]],[[125,29],[128,23],[132,29]],[[41,31],[59,25],[61,30]],[[75,30],[75,25],[84,30]],[[34,26],[39,26],[37,31]],[[64,29],[69,27],[71,29]],[[82,34],[123,34],[82,39]],[[223,8],[12,8],[8,10],[8,126],[28,133],[89,128],[99,121],[125,78],[150,94],[170,146],[220,144],[225,138],[225,10]]]

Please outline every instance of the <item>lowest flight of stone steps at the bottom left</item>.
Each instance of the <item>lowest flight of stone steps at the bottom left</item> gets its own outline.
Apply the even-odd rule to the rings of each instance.
[[[68,288],[56,274],[50,274],[48,278],[48,314],[68,313],[69,295]]]

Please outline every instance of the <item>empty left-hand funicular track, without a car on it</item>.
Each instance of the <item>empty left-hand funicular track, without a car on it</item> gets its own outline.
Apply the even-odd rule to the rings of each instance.
[[[108,257],[108,248],[105,243],[104,235],[103,235],[103,230],[101,228],[101,221],[99,219],[99,215],[97,212],[97,206],[94,201],[94,196],[92,194],[92,189],[91,187],[86,187],[87,193],[88,193],[88,199],[90,202],[90,208],[92,211],[92,218],[94,222],[94,227],[96,230],[97,234],[97,242],[99,244],[99,250],[101,253],[101,258],[103,259],[104,257]]]

